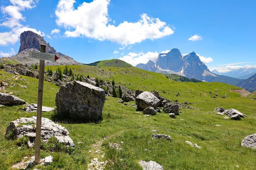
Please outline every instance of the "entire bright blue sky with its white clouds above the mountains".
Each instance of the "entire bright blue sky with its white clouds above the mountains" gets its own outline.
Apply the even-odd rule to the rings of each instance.
[[[17,53],[29,29],[83,63],[136,65],[178,48],[195,51],[210,69],[255,67],[255,8],[256,1],[234,0],[2,0],[0,57]]]

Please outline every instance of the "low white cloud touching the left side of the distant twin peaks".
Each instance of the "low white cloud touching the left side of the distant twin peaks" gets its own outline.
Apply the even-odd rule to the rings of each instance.
[[[133,66],[137,64],[143,63],[146,64],[148,60],[156,61],[158,53],[155,52],[147,52],[147,53],[132,53],[130,52],[128,55],[120,57],[119,60],[123,60]]]

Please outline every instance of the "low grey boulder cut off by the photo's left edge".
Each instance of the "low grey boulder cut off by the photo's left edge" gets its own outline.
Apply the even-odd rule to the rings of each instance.
[[[16,96],[9,95],[0,92],[0,104],[1,105],[23,105],[26,102]]]

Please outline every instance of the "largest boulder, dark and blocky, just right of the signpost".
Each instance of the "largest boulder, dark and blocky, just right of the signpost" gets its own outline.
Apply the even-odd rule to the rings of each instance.
[[[103,89],[74,81],[60,87],[55,99],[58,114],[79,121],[99,121],[105,103]]]

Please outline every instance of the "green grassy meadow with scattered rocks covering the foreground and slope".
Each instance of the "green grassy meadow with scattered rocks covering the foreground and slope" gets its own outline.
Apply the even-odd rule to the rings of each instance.
[[[103,109],[103,121],[98,124],[77,124],[58,121],[69,130],[70,137],[76,144],[72,152],[51,149],[41,151],[41,157],[52,155],[54,161],[48,167],[41,169],[87,169],[87,164],[92,158],[108,160],[105,169],[141,169],[139,160],[153,160],[161,164],[165,170],[174,169],[256,169],[256,150],[241,147],[241,140],[247,135],[255,133],[256,114],[255,100],[242,98],[230,89],[235,86],[224,83],[192,83],[177,82],[166,78],[164,75],[143,71],[135,67],[89,67],[68,66],[75,73],[90,77],[98,77],[105,81],[115,80],[117,85],[125,85],[129,89],[151,91],[157,90],[160,95],[170,100],[179,102],[191,102],[190,106],[199,110],[182,109],[180,116],[171,119],[168,114],[158,113],[155,116],[144,117],[136,108],[118,103],[118,98],[107,97]],[[51,67],[54,71],[57,67]],[[64,69],[64,66],[61,66]],[[47,67],[45,68],[47,70]],[[36,103],[37,79],[26,76],[26,81],[20,78],[11,78],[14,75],[0,71],[1,80],[9,80],[7,92],[24,99],[29,103]],[[4,77],[6,76],[6,77]],[[27,83],[29,82],[29,83]],[[23,89],[18,85],[26,85]],[[13,86],[14,85],[14,86]],[[44,82],[43,105],[55,107],[55,96],[59,87],[52,83]],[[165,92],[165,93],[164,93]],[[176,96],[176,94],[180,95]],[[213,98],[218,94],[217,98]],[[227,96],[226,99],[221,98]],[[234,108],[246,114],[248,118],[241,121],[223,119],[225,116],[216,115],[213,110],[221,106],[225,109]],[[3,106],[0,108],[0,169],[10,169],[11,165],[20,162],[24,156],[34,155],[34,148],[20,148],[15,140],[4,138],[5,130],[10,121],[19,117],[35,116],[35,112],[26,113],[20,110],[22,106]],[[43,113],[43,117],[52,119],[55,113]],[[216,124],[222,126],[217,127]],[[172,142],[166,140],[151,139],[151,130],[158,130],[159,134],[170,135]],[[101,150],[106,154],[100,158],[95,153],[92,144],[103,142]],[[186,144],[186,140],[201,146],[201,149],[192,148]],[[110,142],[121,144],[122,150],[115,150],[108,146]],[[123,142],[123,143],[121,143]],[[79,143],[79,144],[78,144]],[[104,146],[104,147],[103,147]],[[149,151],[145,151],[145,148]],[[89,153],[89,151],[92,153]]]

